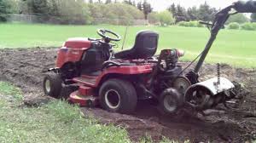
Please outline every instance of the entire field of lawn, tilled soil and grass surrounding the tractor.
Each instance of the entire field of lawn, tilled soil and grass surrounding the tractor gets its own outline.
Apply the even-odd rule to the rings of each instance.
[[[246,97],[239,108],[219,105],[205,117],[190,114],[169,117],[160,115],[151,102],[139,101],[136,112],[123,115],[101,108],[79,108],[44,96],[43,78],[55,66],[56,48],[68,37],[98,37],[96,29],[101,27],[122,36],[125,33],[125,26],[0,24],[0,142],[256,140],[255,31],[221,31],[207,57],[208,63],[201,69],[200,80],[205,80],[216,77],[216,65],[212,63],[224,63],[221,76],[241,83],[248,91],[242,94]],[[186,56],[182,60],[186,61],[200,54],[209,37],[205,28],[133,26],[129,27],[125,49],[132,46],[137,31],[143,29],[160,33],[158,52],[167,48],[184,49]],[[119,42],[117,50],[121,45]],[[187,66],[186,61],[180,64]]]

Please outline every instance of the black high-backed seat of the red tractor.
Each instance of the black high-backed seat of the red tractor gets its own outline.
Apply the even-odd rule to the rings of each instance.
[[[137,33],[132,49],[114,54],[115,59],[148,59],[154,56],[158,45],[159,34],[155,31],[140,31]]]

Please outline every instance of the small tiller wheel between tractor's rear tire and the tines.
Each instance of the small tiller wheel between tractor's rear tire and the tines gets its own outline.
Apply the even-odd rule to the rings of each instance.
[[[174,115],[181,106],[183,106],[183,95],[176,89],[166,89],[160,95],[160,113],[164,115]]]

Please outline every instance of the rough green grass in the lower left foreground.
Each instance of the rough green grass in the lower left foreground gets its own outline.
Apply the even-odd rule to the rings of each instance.
[[[0,82],[0,142],[131,142],[125,129],[83,117],[78,106],[53,101],[19,106],[20,89]]]

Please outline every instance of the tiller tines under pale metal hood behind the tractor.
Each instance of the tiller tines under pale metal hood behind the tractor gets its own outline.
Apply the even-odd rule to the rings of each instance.
[[[191,85],[185,92],[186,105],[196,111],[211,109],[218,104],[237,99],[240,89],[224,77],[215,77],[201,83]]]

